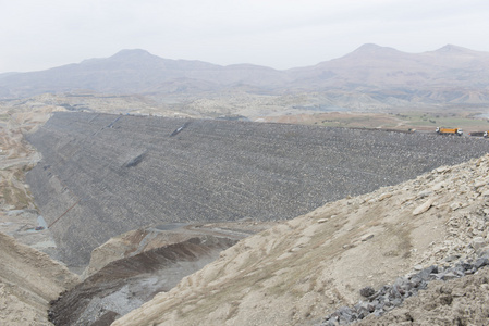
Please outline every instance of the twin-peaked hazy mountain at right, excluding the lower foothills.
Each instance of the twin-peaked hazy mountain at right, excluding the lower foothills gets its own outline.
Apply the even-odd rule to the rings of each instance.
[[[481,88],[489,85],[489,53],[445,46],[412,54],[364,45],[340,59],[293,70],[297,83],[317,88],[356,87],[420,89],[423,87]]]

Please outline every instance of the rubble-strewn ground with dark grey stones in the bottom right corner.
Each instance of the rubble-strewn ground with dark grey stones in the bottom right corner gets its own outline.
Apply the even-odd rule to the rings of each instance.
[[[443,324],[450,323],[450,321],[463,325],[468,321],[482,324],[484,322],[487,322],[489,317],[489,308],[487,306],[489,298],[484,296],[484,293],[479,297],[480,293],[478,293],[478,289],[476,289],[476,291],[474,291],[474,289],[456,289],[453,291],[453,288],[460,286],[460,283],[450,280],[459,278],[465,278],[467,280],[468,277],[466,276],[476,274],[476,283],[479,286],[482,285],[484,288],[487,288],[484,286],[484,284],[488,283],[487,275],[489,269],[486,267],[487,265],[489,265],[489,250],[480,252],[479,255],[474,259],[462,260],[453,266],[439,267],[437,265],[431,265],[418,273],[414,273],[405,277],[399,277],[392,285],[384,285],[377,291],[371,287],[365,287],[359,291],[360,296],[365,297],[365,299],[352,308],[340,308],[332,314],[329,314],[319,325],[346,325],[359,321],[362,321],[362,324],[364,325],[372,325],[375,323],[382,324],[384,323],[383,321],[389,318],[387,312],[402,305],[409,305],[408,302],[415,300],[408,298],[423,294],[427,296],[426,291],[432,292],[433,288],[436,288],[439,296],[435,294],[433,300],[423,306],[419,313],[413,313],[413,315],[411,313],[405,313],[404,317],[398,321],[416,323],[420,323],[421,321],[426,322],[426,319],[428,319],[427,315],[429,314],[425,314],[423,311],[431,311],[440,305],[452,305],[454,298],[465,297],[467,292],[470,291],[472,293],[468,293],[468,296],[473,297],[472,299],[474,299],[474,297],[478,297],[478,300],[476,300],[476,302],[472,302],[470,300],[464,300],[466,298],[461,298],[459,300],[459,304],[476,308],[475,313],[473,313],[474,311],[469,312],[467,309],[457,308],[459,311],[455,316],[452,314],[444,314],[445,321]],[[439,285],[437,280],[442,280],[442,283],[445,283],[442,288],[437,288]],[[469,283],[473,281],[469,280],[465,284]],[[432,293],[430,294],[432,296]],[[394,313],[394,316],[399,318],[399,312]],[[393,322],[394,321],[391,321],[390,323],[392,324]],[[432,325],[433,323],[430,324]]]

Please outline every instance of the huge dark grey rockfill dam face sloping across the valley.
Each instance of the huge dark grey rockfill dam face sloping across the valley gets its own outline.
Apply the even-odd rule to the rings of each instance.
[[[64,262],[170,222],[286,220],[489,151],[485,139],[215,120],[56,113],[27,183]]]

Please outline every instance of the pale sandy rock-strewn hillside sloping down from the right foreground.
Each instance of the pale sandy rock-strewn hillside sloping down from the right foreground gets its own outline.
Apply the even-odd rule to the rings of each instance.
[[[482,325],[489,273],[468,262],[487,252],[488,198],[485,155],[326,204],[240,241],[113,325],[320,324],[366,300],[362,289],[432,265],[428,290],[363,325]],[[462,263],[476,274],[457,279]]]

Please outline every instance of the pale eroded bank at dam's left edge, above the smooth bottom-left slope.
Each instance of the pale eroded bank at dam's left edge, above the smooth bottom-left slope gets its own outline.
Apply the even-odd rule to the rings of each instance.
[[[28,102],[28,101],[26,101]],[[44,124],[53,111],[62,108],[24,103],[0,103],[0,231],[39,250],[53,251],[48,230],[34,231],[38,226],[37,209],[25,173],[39,160],[24,135]]]

